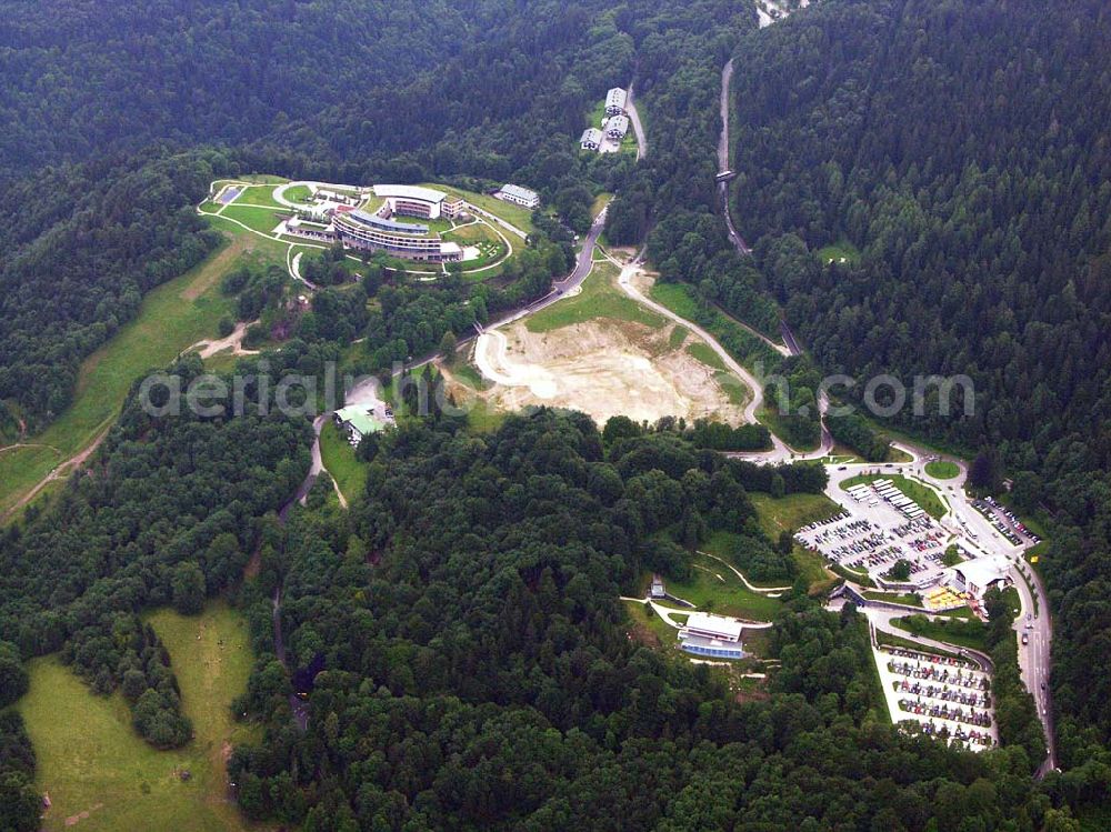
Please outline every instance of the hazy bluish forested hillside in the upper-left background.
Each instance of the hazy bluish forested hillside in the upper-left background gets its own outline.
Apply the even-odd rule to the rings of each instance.
[[[4,171],[156,139],[241,144],[306,130],[317,139],[324,133],[316,120],[352,101],[368,109],[350,113],[350,128],[377,142],[390,134],[388,119],[397,126],[419,112],[380,109],[407,100],[384,90],[408,90],[430,68],[521,32],[526,20],[507,14],[511,4],[499,0],[67,0],[50,8],[9,0],[3,7]]]

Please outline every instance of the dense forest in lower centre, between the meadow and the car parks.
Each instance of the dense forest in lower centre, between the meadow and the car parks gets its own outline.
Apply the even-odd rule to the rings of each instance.
[[[320,502],[266,538],[248,706],[267,736],[231,761],[252,816],[311,830],[1045,821],[1019,746],[959,754],[882,723],[851,609],[790,602],[770,701],[739,704],[704,666],[629,640],[615,597],[654,535],[689,512],[735,528],[749,490],[773,477],[820,489],[820,469],[724,463],[667,433],[607,441],[581,415],[540,411],[486,437],[411,424],[370,470],[350,513]],[[273,658],[278,583],[288,671]],[[304,733],[291,690],[311,691]]]

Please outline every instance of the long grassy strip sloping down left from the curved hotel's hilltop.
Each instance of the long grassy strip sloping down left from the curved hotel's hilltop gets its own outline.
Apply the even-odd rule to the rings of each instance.
[[[190,344],[216,335],[220,318],[232,310],[231,301],[220,293],[220,278],[241,258],[259,257],[257,241],[260,238],[241,234],[200,265],[153,289],[143,298],[136,319],[84,360],[73,403],[46,431],[28,439],[50,448],[21,448],[0,454],[0,513],[54,465],[102,433],[137,378],[166,367]],[[262,255],[269,257],[269,252]]]

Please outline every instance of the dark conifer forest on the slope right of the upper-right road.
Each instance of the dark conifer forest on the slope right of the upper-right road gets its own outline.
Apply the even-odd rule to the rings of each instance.
[[[1111,739],[1111,14],[1105,3],[838,2],[742,41],[739,224],[829,371],[967,373],[911,419],[1057,521],[1062,752]],[[970,48],[969,44],[975,44]],[[857,264],[814,252],[848,240]],[[1097,612],[1099,610],[1099,612]]]

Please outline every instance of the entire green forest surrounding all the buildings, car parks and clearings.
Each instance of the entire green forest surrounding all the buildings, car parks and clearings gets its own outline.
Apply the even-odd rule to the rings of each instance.
[[[81,362],[140,300],[216,250],[194,207],[220,177],[528,182],[559,217],[497,287],[322,289],[281,349],[241,360],[238,418],[153,418],[133,388],[88,463],[0,529],[0,832],[39,828],[36,754],[9,709],[57,654],[122,694],[157,749],[190,741],[144,611],[228,599],[258,656],[228,762],[252,820],[312,830],[1073,832],[1111,818],[1111,9],[1102,0],[824,0],[765,29],[727,0],[0,1],[0,435],[73,401]],[[731,243],[714,174],[734,61]],[[582,154],[585,113],[634,80],[649,153]],[[1002,748],[973,754],[885,718],[867,621],[810,597],[757,502],[821,467],[717,450],[714,425],[595,425],[539,409],[492,431],[433,411],[364,443],[349,509],[317,481],[308,420],[258,405],[353,342],[360,368],[543,294],[595,193],[699,322],[731,315],[808,354],[722,339],[813,405],[822,373],[972,378],[975,413],[843,419],[882,460],[895,428],[1012,483],[1048,530],[1062,771],[1018,680]],[[828,262],[827,247],[851,252]],[[327,255],[308,268],[328,274]],[[244,319],[272,275],[228,279]],[[278,281],[278,278],[273,278]],[[366,301],[377,299],[368,312]],[[308,322],[306,322],[308,321]],[[171,368],[203,372],[196,357]],[[852,399],[853,393],[845,394]],[[817,408],[785,421],[814,441]],[[761,432],[762,431],[762,432]],[[750,441],[751,440],[751,441]],[[763,695],[631,635],[618,600],[689,574],[715,532],[793,583]],[[790,540],[788,540],[788,551]],[[244,578],[244,573],[252,577]],[[278,600],[280,599],[280,609]],[[1008,610],[989,648],[1013,662]],[[277,612],[276,612],[277,610]],[[283,642],[276,638],[278,618]],[[1009,652],[1010,651],[1010,652]],[[284,661],[280,658],[283,656]]]

